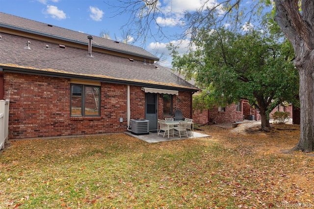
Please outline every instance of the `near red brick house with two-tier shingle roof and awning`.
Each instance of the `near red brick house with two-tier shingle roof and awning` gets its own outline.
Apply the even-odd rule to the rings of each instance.
[[[9,138],[126,131],[180,109],[198,89],[136,46],[0,13],[0,100]]]

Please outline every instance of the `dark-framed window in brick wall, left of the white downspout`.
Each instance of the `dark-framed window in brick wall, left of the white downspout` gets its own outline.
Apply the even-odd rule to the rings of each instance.
[[[100,116],[100,87],[71,84],[71,116]]]

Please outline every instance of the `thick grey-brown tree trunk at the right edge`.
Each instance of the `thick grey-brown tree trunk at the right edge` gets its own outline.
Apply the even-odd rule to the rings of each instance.
[[[276,21],[291,42],[300,76],[300,140],[294,150],[314,151],[314,0],[275,0]]]

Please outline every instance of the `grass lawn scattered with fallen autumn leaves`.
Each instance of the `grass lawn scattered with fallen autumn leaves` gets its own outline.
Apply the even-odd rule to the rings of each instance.
[[[125,134],[12,141],[0,154],[0,208],[314,207],[313,157],[210,134],[155,144]]]

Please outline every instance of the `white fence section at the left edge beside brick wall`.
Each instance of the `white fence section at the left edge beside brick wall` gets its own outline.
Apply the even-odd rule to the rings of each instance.
[[[8,140],[9,104],[9,100],[0,100],[0,149],[4,149],[4,143]]]

